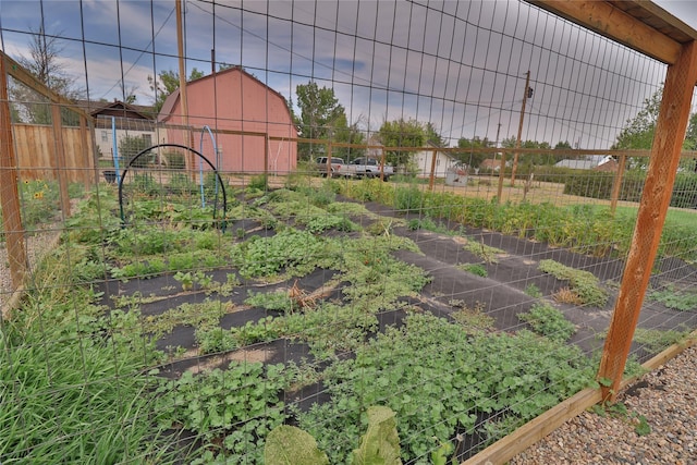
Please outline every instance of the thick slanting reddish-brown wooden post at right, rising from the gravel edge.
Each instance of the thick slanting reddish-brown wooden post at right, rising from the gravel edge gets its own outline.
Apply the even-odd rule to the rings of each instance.
[[[606,386],[603,394],[610,400],[616,396],[622,381],[629,346],[658,253],[663,223],[673,194],[681,146],[687,130],[695,82],[697,82],[697,41],[685,45],[677,62],[668,68],[634,235],[598,370],[598,379],[611,381],[610,387],[603,383]]]

